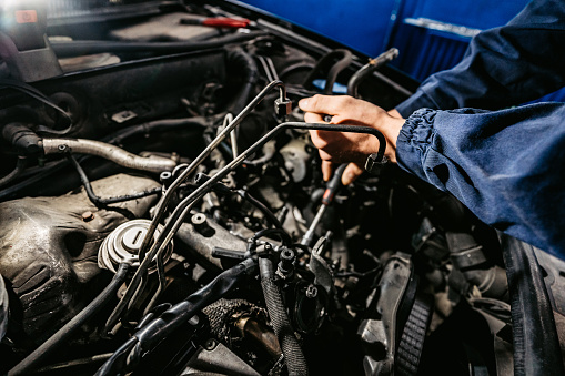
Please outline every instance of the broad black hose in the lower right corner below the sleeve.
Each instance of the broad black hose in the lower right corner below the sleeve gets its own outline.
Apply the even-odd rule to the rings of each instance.
[[[565,375],[555,318],[534,248],[501,234],[508,277],[514,375]]]

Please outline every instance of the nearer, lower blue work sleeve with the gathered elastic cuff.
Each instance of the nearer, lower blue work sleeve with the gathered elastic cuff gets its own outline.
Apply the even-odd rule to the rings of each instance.
[[[421,109],[402,128],[396,154],[402,169],[483,222],[565,258],[565,104]]]

